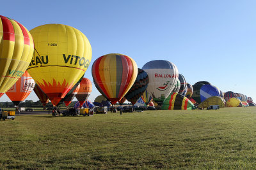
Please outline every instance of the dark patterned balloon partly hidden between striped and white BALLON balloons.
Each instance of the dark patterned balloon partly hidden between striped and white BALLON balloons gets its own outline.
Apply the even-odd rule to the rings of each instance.
[[[127,101],[131,102],[132,105],[141,97],[148,87],[148,74],[143,70],[138,68],[138,75],[134,81],[131,89],[125,94]]]

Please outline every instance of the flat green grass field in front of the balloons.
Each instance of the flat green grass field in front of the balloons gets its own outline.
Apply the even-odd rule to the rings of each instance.
[[[0,121],[0,169],[255,169],[256,107]]]

